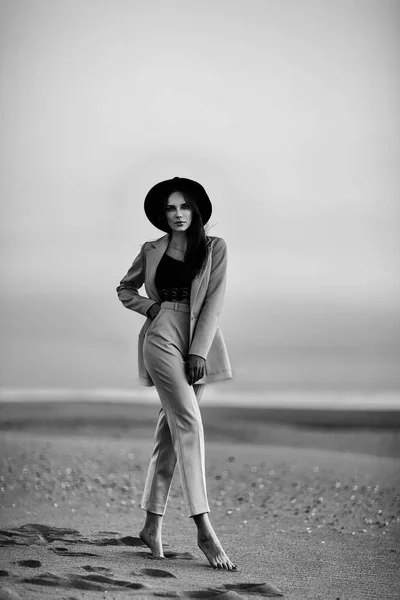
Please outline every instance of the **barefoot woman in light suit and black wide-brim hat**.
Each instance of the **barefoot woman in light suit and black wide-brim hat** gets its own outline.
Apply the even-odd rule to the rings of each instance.
[[[205,384],[232,377],[218,317],[226,284],[222,238],[206,236],[211,202],[204,188],[175,177],[147,194],[148,219],[167,235],[146,242],[117,288],[127,308],[147,316],[139,333],[139,378],[155,385],[161,409],[141,507],[140,532],[153,557],[163,558],[162,518],[176,463],[198,546],[210,565],[236,569],[208,518],[204,432],[198,403]],[[142,285],[148,298],[139,295]]]

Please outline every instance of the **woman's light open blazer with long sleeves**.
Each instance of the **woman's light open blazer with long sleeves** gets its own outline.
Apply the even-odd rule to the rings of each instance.
[[[146,312],[161,303],[155,285],[158,263],[168,247],[168,235],[154,242],[145,242],[127,274],[117,287],[122,304],[147,317]],[[188,354],[197,354],[206,360],[205,375],[196,383],[210,383],[232,377],[218,319],[226,287],[227,249],[225,240],[207,236],[207,264],[200,276],[192,281],[190,291],[190,337]],[[138,290],[144,284],[148,298]],[[155,317],[157,318],[157,316]],[[147,317],[139,333],[138,367],[142,385],[154,385],[143,359],[143,342],[152,319]],[[186,358],[186,357],[185,357]]]

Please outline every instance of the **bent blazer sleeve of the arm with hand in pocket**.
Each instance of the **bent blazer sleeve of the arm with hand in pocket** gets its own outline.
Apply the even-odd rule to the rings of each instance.
[[[138,290],[142,287],[145,280],[145,245],[144,243],[141,250],[135,260],[132,263],[127,274],[121,279],[119,286],[117,287],[118,298],[122,304],[140,313],[141,315],[148,316],[147,311],[150,306],[157,304],[154,300],[141,296]]]

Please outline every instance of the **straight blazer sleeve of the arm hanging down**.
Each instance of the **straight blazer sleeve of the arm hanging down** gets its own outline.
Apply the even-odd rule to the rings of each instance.
[[[212,248],[212,264],[206,296],[197,319],[189,354],[207,359],[215,337],[225,296],[228,256],[226,242],[218,238]]]

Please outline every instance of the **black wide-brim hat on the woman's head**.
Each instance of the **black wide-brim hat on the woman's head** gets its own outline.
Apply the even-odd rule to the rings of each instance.
[[[144,212],[149,221],[158,229],[169,233],[167,221],[163,218],[163,202],[172,192],[186,192],[197,204],[203,225],[211,217],[212,204],[206,190],[200,183],[185,177],[174,177],[161,181],[151,188],[144,200]]]

